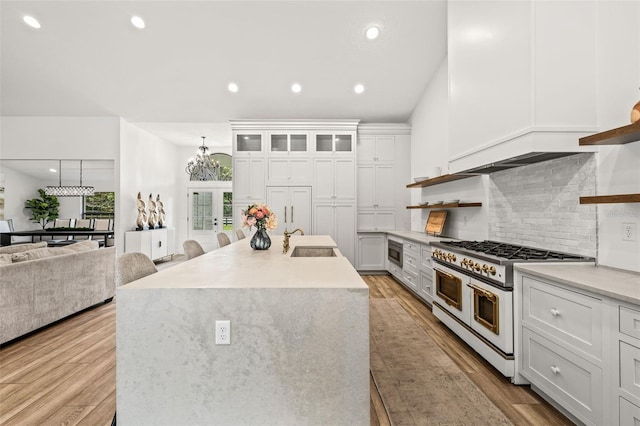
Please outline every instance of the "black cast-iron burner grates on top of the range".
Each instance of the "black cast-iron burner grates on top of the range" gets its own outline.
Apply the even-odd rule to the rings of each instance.
[[[569,253],[542,250],[497,241],[441,241],[443,245],[500,257],[508,260],[588,260],[590,258]]]

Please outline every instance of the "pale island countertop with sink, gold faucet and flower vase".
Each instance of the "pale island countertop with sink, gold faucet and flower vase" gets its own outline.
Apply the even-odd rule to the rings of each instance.
[[[271,248],[253,250],[249,238],[187,260],[156,274],[118,287],[144,288],[353,288],[368,289],[349,260],[337,257],[291,257],[296,246],[330,247],[328,235],[293,235],[282,254],[282,235],[269,235]]]

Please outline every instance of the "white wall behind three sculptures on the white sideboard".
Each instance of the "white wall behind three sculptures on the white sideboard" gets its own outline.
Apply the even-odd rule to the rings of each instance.
[[[160,194],[167,227],[175,228],[182,219],[178,206],[182,198],[183,179],[179,174],[181,158],[174,144],[125,120],[121,120],[120,129],[120,202],[116,206],[116,247],[122,253],[124,232],[136,227],[138,192],[147,205],[149,194],[153,195],[154,201]],[[182,240],[177,235],[175,244],[176,247],[182,246]]]

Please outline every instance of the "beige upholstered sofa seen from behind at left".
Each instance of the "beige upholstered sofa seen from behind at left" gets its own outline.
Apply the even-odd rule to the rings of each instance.
[[[114,295],[115,247],[0,247],[0,345]]]

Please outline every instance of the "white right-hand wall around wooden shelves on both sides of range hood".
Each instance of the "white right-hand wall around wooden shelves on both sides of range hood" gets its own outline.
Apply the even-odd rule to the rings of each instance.
[[[598,121],[600,129],[604,131],[628,124],[631,108],[640,99],[640,2],[600,1],[597,42]],[[429,167],[445,164],[447,161],[447,102],[445,61],[411,116],[412,176],[424,176]],[[465,123],[451,125],[464,126]],[[577,143],[576,140],[576,145]],[[597,163],[597,194],[640,192],[640,142],[622,146],[603,146],[597,155]],[[543,165],[544,167],[546,166]],[[501,172],[503,175],[500,179],[504,181],[516,176],[516,170]],[[443,173],[445,171],[446,168],[443,167]],[[412,189],[412,204],[423,200],[456,198],[482,201],[481,209],[450,210],[445,232],[464,239],[478,239],[470,236],[482,234],[488,238],[496,238],[489,232],[486,213],[495,201],[490,195],[489,185],[490,177],[487,176],[463,179],[422,190]],[[585,209],[592,210],[586,206]],[[640,225],[640,205],[603,204],[596,209],[599,264],[640,271],[640,239],[636,239],[635,242],[622,241],[623,223]],[[414,210],[412,230],[424,230],[427,212],[428,210]],[[593,249],[589,247],[587,251],[591,254]]]

